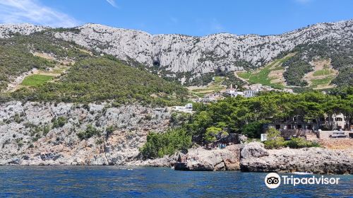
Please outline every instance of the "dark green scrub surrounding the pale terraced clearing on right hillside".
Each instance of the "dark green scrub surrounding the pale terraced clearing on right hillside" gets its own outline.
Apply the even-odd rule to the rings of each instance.
[[[285,54],[292,52],[296,52],[297,54],[283,64],[283,66],[287,66],[287,70],[284,74],[287,85],[307,86],[308,83],[303,81],[302,78],[305,74],[313,71],[313,68],[309,62],[320,57],[323,59],[330,59],[333,69],[339,71],[333,81],[325,81],[323,83],[334,83],[340,87],[352,86],[353,79],[349,78],[349,76],[352,76],[353,69],[352,41],[347,40],[345,45],[334,45],[333,43],[325,40],[315,44],[297,45],[293,50],[279,54],[278,57],[283,57]],[[316,72],[317,76],[321,74],[326,74],[326,71],[323,70]]]

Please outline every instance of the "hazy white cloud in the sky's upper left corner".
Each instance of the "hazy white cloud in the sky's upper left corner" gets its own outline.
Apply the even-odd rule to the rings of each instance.
[[[79,22],[40,4],[37,0],[1,0],[0,23],[34,23],[51,27],[74,27]]]

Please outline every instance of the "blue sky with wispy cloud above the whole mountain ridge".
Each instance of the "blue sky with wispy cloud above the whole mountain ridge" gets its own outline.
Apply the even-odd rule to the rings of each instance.
[[[351,0],[1,0],[0,23],[100,23],[152,34],[273,35],[353,18]]]

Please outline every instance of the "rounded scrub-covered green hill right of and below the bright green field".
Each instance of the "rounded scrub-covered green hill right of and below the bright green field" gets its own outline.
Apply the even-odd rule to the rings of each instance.
[[[183,102],[187,91],[177,83],[126,66],[105,57],[82,59],[55,83],[12,94],[18,100],[90,103],[115,100],[116,104],[152,103],[174,105]]]

